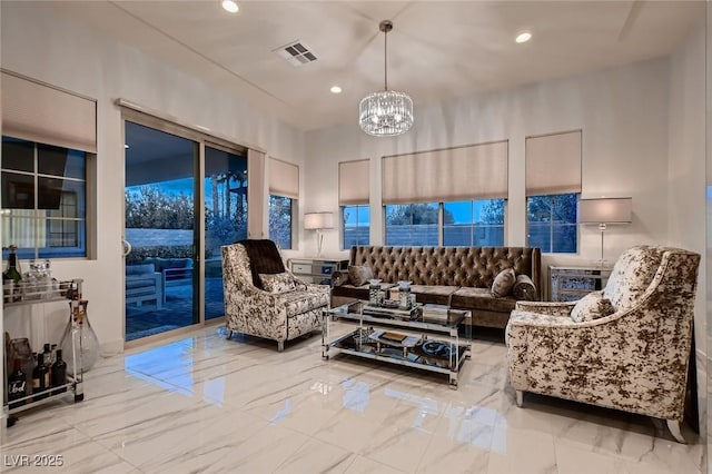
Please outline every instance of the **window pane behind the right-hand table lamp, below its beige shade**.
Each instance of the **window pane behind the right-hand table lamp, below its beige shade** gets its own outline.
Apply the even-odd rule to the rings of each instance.
[[[543,253],[573,254],[577,248],[576,203],[578,194],[526,198],[527,241]]]

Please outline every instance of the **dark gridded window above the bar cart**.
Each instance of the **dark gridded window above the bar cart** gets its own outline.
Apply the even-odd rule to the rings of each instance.
[[[87,154],[2,137],[2,247],[20,258],[87,256]]]

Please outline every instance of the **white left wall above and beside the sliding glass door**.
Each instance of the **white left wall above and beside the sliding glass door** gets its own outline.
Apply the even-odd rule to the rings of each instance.
[[[184,122],[208,127],[236,144],[261,147],[268,155],[299,165],[304,161],[304,134],[169,65],[59,16],[44,2],[2,2],[0,8],[3,69],[98,100],[97,259],[56,260],[53,275],[85,279],[89,319],[105,350],[120,350],[123,140],[115,99],[123,98]],[[39,329],[47,335],[37,337],[51,340],[51,335],[66,324],[66,310],[63,305],[41,310],[48,313],[49,323]],[[56,337],[60,336],[61,332]]]

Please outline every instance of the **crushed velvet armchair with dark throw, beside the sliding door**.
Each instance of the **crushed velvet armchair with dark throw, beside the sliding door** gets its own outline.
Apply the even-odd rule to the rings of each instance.
[[[274,243],[271,245],[275,246]],[[260,269],[264,270],[265,266]],[[281,273],[291,275],[286,269]],[[319,330],[322,309],[329,304],[329,287],[305,284],[294,275],[291,278],[296,290],[280,294],[265,292],[254,284],[250,258],[244,241],[224,246],[222,283],[228,334],[236,330],[273,339],[281,350],[285,340]]]

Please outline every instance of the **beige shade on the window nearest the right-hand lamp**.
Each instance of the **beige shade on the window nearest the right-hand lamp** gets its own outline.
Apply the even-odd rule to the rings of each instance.
[[[581,130],[526,138],[526,195],[581,192]]]

